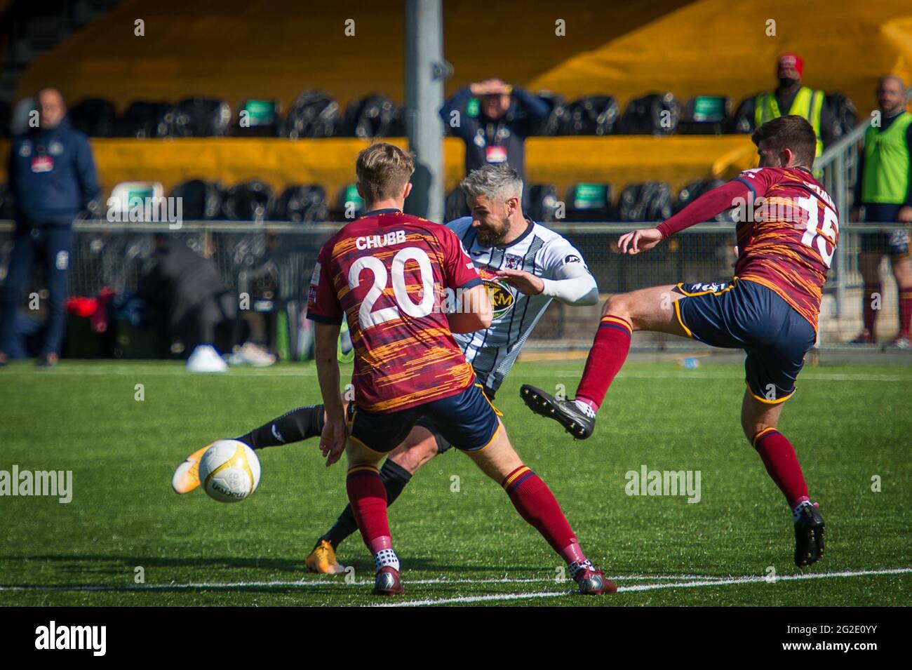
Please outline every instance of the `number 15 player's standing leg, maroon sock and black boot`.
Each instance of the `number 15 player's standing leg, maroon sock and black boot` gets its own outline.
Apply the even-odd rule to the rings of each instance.
[[[808,495],[804,474],[792,443],[776,429],[781,413],[781,403],[763,403],[753,397],[750,391],[744,392],[741,406],[744,434],[751,440],[753,448],[757,449],[767,473],[776,482],[792,510],[795,565],[803,567],[824,557],[826,524],[817,503],[812,502]]]

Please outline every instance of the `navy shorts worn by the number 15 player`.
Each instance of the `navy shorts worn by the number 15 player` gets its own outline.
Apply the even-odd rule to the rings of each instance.
[[[787,400],[804,355],[817,339],[814,326],[779,294],[759,283],[679,283],[675,303],[688,335],[707,345],[743,349],[751,395],[764,403]]]

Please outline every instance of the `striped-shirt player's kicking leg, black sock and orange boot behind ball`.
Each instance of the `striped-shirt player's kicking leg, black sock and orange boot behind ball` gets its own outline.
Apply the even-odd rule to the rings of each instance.
[[[323,406],[307,405],[285,412],[281,417],[275,417],[264,423],[263,426],[254,428],[249,433],[244,433],[241,437],[234,439],[240,440],[254,449],[276,447],[319,437],[325,423],[326,415]],[[206,453],[206,449],[210,447],[212,444],[197,449],[174,470],[174,475],[171,477],[171,488],[176,493],[190,493],[200,485],[200,459]]]

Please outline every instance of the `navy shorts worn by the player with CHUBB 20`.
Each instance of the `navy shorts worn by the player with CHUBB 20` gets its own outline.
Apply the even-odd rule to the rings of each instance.
[[[371,414],[352,403],[348,406],[349,437],[371,451],[387,454],[399,447],[420,419],[430,421],[435,428],[431,432],[461,451],[487,447],[500,428],[497,411],[476,382],[455,396],[389,414]]]

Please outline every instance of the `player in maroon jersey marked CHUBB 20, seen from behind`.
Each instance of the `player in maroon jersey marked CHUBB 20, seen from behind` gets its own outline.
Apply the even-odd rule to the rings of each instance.
[[[316,322],[316,369],[326,407],[326,465],[345,451],[346,488],[358,530],[374,556],[374,593],[403,593],[378,462],[420,417],[501,482],[513,506],[567,563],[580,593],[617,591],[586,559],[551,490],[513,450],[452,331],[491,325],[492,308],[459,237],[402,213],[411,157],[379,143],[358,154],[358,193],[368,213],[337,232],[317,256],[307,317]],[[457,308],[444,312],[443,291]],[[339,393],[337,338],[343,313],[355,348],[347,409]]]

